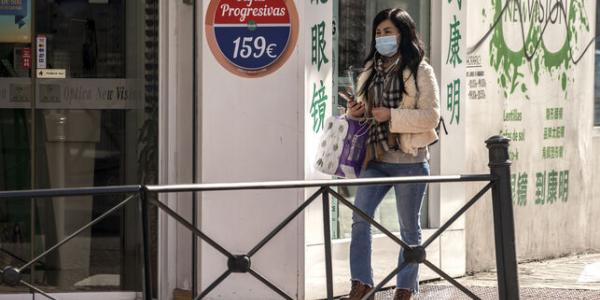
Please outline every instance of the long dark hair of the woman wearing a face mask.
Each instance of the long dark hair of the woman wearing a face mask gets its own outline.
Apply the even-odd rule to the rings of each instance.
[[[377,26],[385,20],[392,21],[392,23],[400,32],[400,45],[398,47],[398,51],[400,52],[402,58],[400,59],[400,66],[397,70],[399,73],[398,75],[400,78],[402,78],[402,71],[408,67],[416,80],[419,64],[421,64],[421,61],[425,56],[425,50],[423,50],[423,41],[417,33],[417,25],[415,24],[415,21],[405,10],[401,8],[388,8],[380,11],[375,16],[375,19],[373,20],[373,32],[371,35],[371,50],[369,51],[367,58],[365,58],[364,65],[366,65],[369,61],[374,60],[376,55],[379,55],[377,54],[377,49],[375,49],[375,35],[377,33]],[[370,68],[372,69],[374,66],[375,61],[373,61],[373,64]],[[369,78],[367,78],[363,86],[360,87],[359,95],[367,94],[367,90],[371,85],[374,76],[375,72],[371,72]],[[402,93],[406,93],[404,89],[404,80],[400,80],[400,90]]]

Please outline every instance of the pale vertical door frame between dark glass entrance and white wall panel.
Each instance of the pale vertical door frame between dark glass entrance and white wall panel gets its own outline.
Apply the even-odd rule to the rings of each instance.
[[[184,1],[159,3],[159,184],[189,183],[192,182],[193,10]],[[159,199],[191,220],[189,193],[162,194]],[[170,299],[175,288],[191,290],[191,242],[189,230],[159,212],[158,295],[155,295],[158,299]]]

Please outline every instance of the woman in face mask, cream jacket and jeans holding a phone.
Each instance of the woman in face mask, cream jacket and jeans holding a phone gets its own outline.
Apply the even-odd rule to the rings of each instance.
[[[429,175],[427,146],[437,140],[439,88],[410,15],[386,9],[373,21],[371,51],[358,80],[357,101],[350,99],[351,118],[372,120],[366,168],[361,178]],[[391,185],[361,186],[355,205],[373,216]],[[419,217],[426,184],[394,185],[400,233],[409,245],[421,243]],[[371,228],[352,216],[349,299],[360,299],[373,287]],[[404,262],[402,251],[398,266]],[[394,299],[410,299],[418,291],[418,264],[407,264],[398,274]],[[372,298],[371,298],[372,299]]]

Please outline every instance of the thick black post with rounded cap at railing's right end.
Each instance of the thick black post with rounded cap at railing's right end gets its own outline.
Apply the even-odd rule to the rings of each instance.
[[[508,159],[509,142],[510,139],[503,136],[493,136],[485,143],[489,149],[489,167],[494,181],[492,203],[499,299],[518,300],[519,277],[510,182],[511,161]]]

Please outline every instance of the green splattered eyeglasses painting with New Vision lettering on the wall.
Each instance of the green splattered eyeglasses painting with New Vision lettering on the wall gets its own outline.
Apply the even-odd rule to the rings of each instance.
[[[528,72],[533,75],[535,85],[540,84],[542,72],[549,73],[560,82],[560,87],[566,93],[568,82],[573,81],[569,71],[587,50],[576,46],[581,44],[579,33],[582,30],[590,31],[583,0],[491,1],[495,24],[490,41],[490,64],[498,73],[498,84],[504,90],[504,96],[520,91],[529,99],[528,82],[524,80]],[[486,11],[483,10],[482,14],[485,17]],[[515,32],[504,32],[505,26],[515,24],[521,27],[520,49],[512,49],[507,43],[507,34],[515,38]],[[545,35],[555,35],[548,30],[550,26],[564,26],[566,31],[559,41],[562,46],[558,50],[550,49],[544,43]]]

